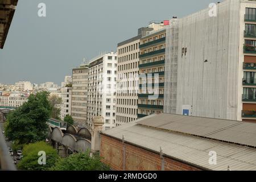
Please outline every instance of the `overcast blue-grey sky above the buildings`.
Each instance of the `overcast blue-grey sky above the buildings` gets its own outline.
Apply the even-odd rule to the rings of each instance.
[[[46,3],[46,17],[38,4]],[[181,18],[212,0],[19,0],[4,49],[0,82],[60,84],[71,68],[137,35],[151,20]]]

